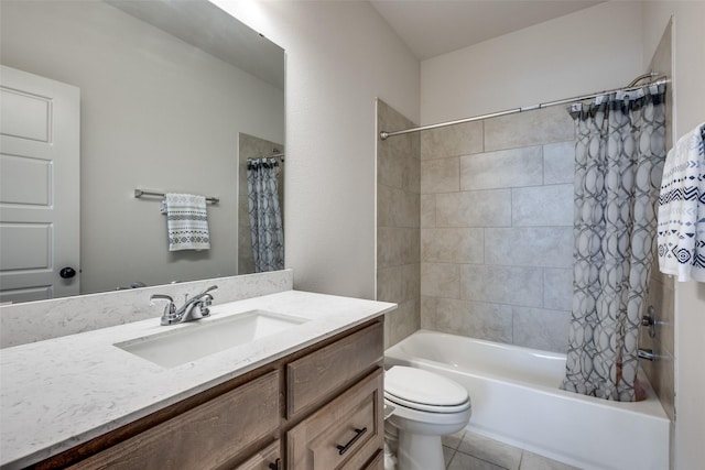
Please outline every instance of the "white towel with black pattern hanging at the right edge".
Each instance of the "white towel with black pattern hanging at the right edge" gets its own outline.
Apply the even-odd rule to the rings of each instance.
[[[705,282],[705,123],[669,152],[659,196],[659,267],[677,281]]]

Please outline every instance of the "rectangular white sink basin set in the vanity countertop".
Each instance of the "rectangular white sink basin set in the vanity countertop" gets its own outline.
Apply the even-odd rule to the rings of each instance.
[[[246,345],[308,321],[306,318],[250,310],[223,319],[189,321],[156,335],[113,346],[164,368],[185,364],[206,356]]]

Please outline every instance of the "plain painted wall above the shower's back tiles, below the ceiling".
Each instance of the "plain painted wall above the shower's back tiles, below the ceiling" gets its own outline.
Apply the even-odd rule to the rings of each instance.
[[[421,64],[421,122],[622,87],[642,70],[641,6],[611,1]]]

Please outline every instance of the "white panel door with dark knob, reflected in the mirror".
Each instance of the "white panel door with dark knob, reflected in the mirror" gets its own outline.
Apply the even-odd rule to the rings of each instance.
[[[80,90],[0,67],[0,302],[76,295]]]

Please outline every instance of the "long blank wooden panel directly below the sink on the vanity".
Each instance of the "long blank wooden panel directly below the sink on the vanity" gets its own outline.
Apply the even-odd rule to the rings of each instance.
[[[279,425],[279,371],[274,371],[72,468],[214,469]]]

